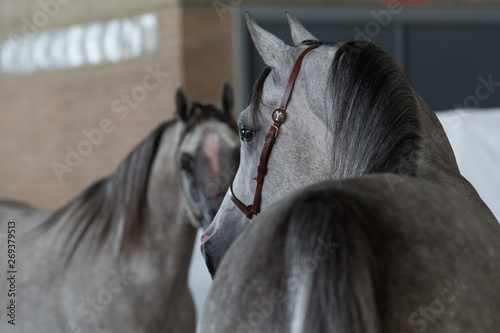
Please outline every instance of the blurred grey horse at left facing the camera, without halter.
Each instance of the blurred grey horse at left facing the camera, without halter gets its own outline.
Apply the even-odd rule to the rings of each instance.
[[[229,86],[222,109],[189,105],[181,91],[176,101],[176,119],[64,207],[0,202],[0,332],[195,331],[196,229],[236,172],[239,139]],[[11,229],[15,261],[4,251]]]

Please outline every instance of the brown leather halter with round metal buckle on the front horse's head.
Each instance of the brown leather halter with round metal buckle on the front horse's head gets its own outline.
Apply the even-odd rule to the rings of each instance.
[[[260,213],[260,202],[262,199],[262,186],[264,185],[264,178],[267,174],[267,163],[269,162],[269,156],[271,156],[271,151],[273,149],[274,142],[278,137],[278,130],[281,124],[286,120],[286,107],[288,105],[288,101],[292,94],[293,86],[295,85],[295,80],[297,79],[297,75],[300,71],[300,66],[302,65],[302,60],[309,51],[317,48],[319,44],[313,45],[305,49],[295,62],[295,65],[292,69],[292,74],[290,74],[290,78],[288,79],[288,84],[285,89],[285,94],[283,95],[283,99],[281,100],[281,105],[278,109],[274,110],[272,114],[272,119],[274,124],[271,125],[269,132],[266,135],[266,139],[264,142],[264,147],[262,148],[262,153],[260,154],[260,162],[259,167],[257,168],[257,188],[255,189],[255,197],[253,199],[253,204],[245,205],[240,199],[238,199],[233,192],[233,184],[231,183],[231,200],[234,202],[236,207],[238,207],[243,214],[252,222],[252,217],[254,215],[259,215]]]

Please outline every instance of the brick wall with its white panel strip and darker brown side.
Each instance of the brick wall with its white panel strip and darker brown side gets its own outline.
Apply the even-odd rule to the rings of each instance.
[[[221,21],[211,4],[2,0],[0,22],[0,195],[41,208],[112,172],[173,116],[178,87],[216,102],[222,82],[232,81],[231,15]],[[148,68],[157,67],[168,76],[143,96]],[[120,107],[127,117],[113,112]],[[65,163],[86,140],[82,131],[103,118],[113,120],[112,133]],[[54,162],[73,167],[56,172]]]

